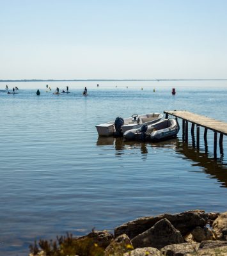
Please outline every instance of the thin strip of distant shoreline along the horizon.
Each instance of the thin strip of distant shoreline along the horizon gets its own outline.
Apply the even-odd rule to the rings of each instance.
[[[5,82],[227,81],[227,79],[0,79]]]

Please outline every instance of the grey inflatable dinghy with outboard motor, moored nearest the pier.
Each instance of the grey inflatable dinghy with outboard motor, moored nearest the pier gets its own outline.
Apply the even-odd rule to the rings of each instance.
[[[180,126],[173,118],[163,119],[152,125],[143,125],[139,129],[132,129],[123,134],[127,140],[160,141],[173,138],[178,134]]]

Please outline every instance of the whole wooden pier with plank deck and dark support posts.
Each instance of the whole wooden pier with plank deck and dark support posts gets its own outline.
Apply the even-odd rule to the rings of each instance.
[[[169,115],[182,119],[182,138],[188,141],[188,122],[191,122],[191,134],[194,138],[194,127],[196,125],[196,147],[200,148],[200,127],[204,127],[205,150],[207,150],[207,130],[214,131],[214,157],[217,158],[217,133],[219,133],[220,154],[223,155],[223,136],[227,135],[227,123],[209,118],[207,116],[198,115],[188,111],[164,111],[166,118]],[[192,140],[192,145],[195,140]]]

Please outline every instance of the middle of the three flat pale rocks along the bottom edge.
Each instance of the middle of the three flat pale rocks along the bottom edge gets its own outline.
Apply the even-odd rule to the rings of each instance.
[[[184,256],[185,253],[197,252],[199,246],[199,243],[171,244],[165,246],[160,251],[165,256]]]

